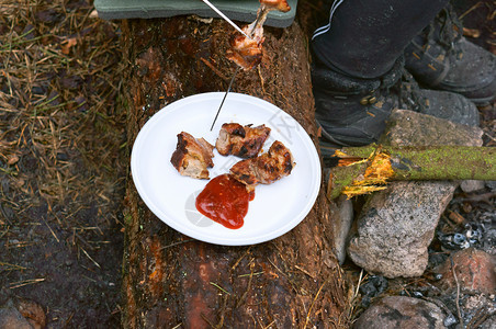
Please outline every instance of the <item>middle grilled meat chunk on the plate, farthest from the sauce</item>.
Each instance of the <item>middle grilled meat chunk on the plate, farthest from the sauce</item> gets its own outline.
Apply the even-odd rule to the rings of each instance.
[[[252,128],[251,125],[225,123],[221,127],[215,147],[223,156],[252,158],[258,155],[269,134],[270,128],[264,125]]]

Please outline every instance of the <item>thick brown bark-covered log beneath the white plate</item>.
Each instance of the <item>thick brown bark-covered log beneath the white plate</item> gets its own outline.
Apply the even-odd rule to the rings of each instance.
[[[226,90],[235,66],[224,57],[233,30],[223,21],[129,20],[122,31],[129,146],[165,105]],[[266,36],[262,64],[239,72],[233,91],[281,107],[316,141],[306,36],[296,22],[267,27]],[[348,327],[348,294],[331,250],[337,212],[324,186],[296,228],[248,247],[210,245],[168,227],[143,203],[131,175],[126,205],[125,328]]]

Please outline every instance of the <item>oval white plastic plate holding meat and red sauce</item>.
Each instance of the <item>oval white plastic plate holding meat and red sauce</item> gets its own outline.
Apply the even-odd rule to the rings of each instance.
[[[192,238],[226,246],[244,246],[274,239],[302,222],[312,209],[320,188],[320,161],[303,127],[275,105],[246,94],[229,93],[210,131],[223,92],[202,93],[176,101],[157,112],[139,132],[131,156],[136,189],[149,209],[164,223]],[[200,214],[196,195],[208,182],[180,175],[170,163],[178,141],[187,132],[215,146],[224,123],[264,124],[271,128],[262,151],[274,140],[293,154],[292,173],[270,185],[257,185],[255,200],[241,228],[229,229]],[[214,150],[211,179],[227,173],[240,159]]]

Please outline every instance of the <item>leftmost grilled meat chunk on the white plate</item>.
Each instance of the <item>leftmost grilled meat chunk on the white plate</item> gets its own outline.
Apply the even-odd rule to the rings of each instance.
[[[188,133],[178,134],[178,145],[170,162],[182,175],[208,179],[207,168],[214,167],[214,146],[203,138],[194,138]]]

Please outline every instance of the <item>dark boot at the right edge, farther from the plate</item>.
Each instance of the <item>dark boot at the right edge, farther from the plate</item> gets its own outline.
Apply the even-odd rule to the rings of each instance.
[[[462,36],[451,8],[413,39],[405,58],[408,71],[430,89],[456,92],[476,104],[496,98],[496,56]]]

